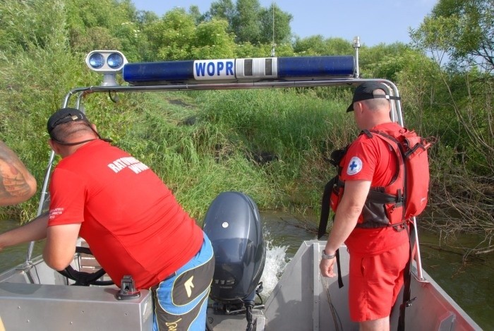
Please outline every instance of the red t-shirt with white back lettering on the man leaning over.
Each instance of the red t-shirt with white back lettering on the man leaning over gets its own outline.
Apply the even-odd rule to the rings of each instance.
[[[102,140],[65,157],[50,183],[48,226],[81,223],[100,265],[119,285],[146,289],[185,265],[203,231],[145,164]]]

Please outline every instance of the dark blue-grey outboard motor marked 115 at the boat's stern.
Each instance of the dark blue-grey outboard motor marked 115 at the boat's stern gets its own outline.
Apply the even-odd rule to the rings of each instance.
[[[215,313],[245,311],[251,323],[255,295],[262,291],[259,279],[266,260],[257,205],[244,193],[220,193],[206,212],[204,231],[215,252],[210,292]]]

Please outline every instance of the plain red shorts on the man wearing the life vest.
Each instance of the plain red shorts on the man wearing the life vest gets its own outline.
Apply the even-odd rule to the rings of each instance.
[[[349,306],[355,322],[377,320],[390,315],[403,286],[403,272],[409,260],[409,243],[385,253],[362,257],[350,254]]]

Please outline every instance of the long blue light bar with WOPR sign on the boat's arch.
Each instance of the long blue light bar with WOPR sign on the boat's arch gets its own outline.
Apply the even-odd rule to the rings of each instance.
[[[126,64],[123,80],[133,85],[327,80],[352,78],[354,56],[299,56],[256,59],[164,61]]]

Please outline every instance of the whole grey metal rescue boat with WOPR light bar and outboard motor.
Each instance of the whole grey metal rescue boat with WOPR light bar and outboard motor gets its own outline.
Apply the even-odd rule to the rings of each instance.
[[[102,74],[99,86],[75,88],[63,107],[76,96],[90,92],[167,92],[251,88],[306,88],[350,86],[368,80],[384,83],[397,100],[391,117],[403,125],[399,92],[390,80],[359,77],[359,43],[349,56],[267,57],[128,63],[121,52],[97,50],[86,64]],[[124,83],[117,83],[121,74]],[[38,215],[47,209],[47,187],[54,153],[49,157]],[[347,287],[319,271],[325,241],[301,242],[299,250],[265,302],[260,276],[266,245],[255,202],[241,192],[222,192],[212,201],[204,231],[215,251],[216,265],[205,330],[358,330],[348,311]],[[108,279],[90,247],[80,239],[76,255],[64,272],[49,268],[41,256],[32,257],[30,243],[25,263],[0,275],[0,330],[152,330],[152,296],[135,289],[130,276],[121,288]],[[416,236],[418,246],[418,236]],[[348,284],[349,254],[340,249],[342,280]],[[90,273],[94,272],[94,273]],[[481,330],[474,320],[434,282],[421,267],[416,250],[411,294],[406,308],[407,330]],[[84,286],[76,286],[84,285]],[[399,318],[397,300],[390,317],[391,329]]]

